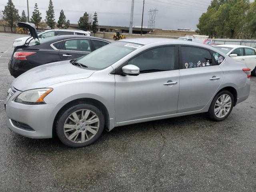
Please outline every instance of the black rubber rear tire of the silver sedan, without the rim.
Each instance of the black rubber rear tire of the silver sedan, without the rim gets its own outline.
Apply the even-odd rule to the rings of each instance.
[[[226,114],[226,115],[225,115],[224,117],[222,117],[222,118],[218,118],[218,117],[216,116],[215,112],[214,112],[215,103],[216,103],[217,99],[218,99],[221,95],[224,95],[224,94],[227,94],[227,95],[230,96],[230,98],[231,98],[231,108],[230,108],[228,114]],[[226,118],[230,115],[230,113],[231,113],[231,111],[232,111],[232,109],[233,109],[233,106],[234,106],[234,96],[233,96],[233,94],[230,93],[229,91],[221,91],[221,92],[219,92],[218,94],[216,94],[216,96],[213,98],[212,103],[211,103],[211,105],[210,105],[210,108],[209,108],[207,114],[208,114],[208,116],[209,116],[209,118],[210,118],[211,120],[214,120],[214,121],[223,121],[224,119],[226,119]]]

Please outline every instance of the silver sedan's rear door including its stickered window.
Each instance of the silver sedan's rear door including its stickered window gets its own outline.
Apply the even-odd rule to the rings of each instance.
[[[214,54],[214,56],[212,55]],[[223,78],[218,66],[224,57],[206,48],[179,46],[180,94],[178,113],[204,108],[210,101]]]

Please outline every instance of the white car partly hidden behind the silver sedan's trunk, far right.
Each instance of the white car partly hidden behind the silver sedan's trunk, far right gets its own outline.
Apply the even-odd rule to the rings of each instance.
[[[243,62],[251,69],[252,76],[256,76],[256,49],[241,45],[217,45],[214,48],[220,50],[234,60]]]

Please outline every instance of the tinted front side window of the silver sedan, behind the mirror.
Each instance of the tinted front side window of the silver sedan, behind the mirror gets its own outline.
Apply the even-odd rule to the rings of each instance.
[[[175,46],[148,50],[130,60],[128,64],[140,68],[140,73],[174,70]]]

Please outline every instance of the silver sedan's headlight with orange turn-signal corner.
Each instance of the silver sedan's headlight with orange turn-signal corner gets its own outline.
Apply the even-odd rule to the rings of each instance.
[[[28,104],[28,105],[39,105],[46,104],[44,98],[52,92],[52,88],[32,89],[27,90],[19,94],[15,98],[15,102]]]

